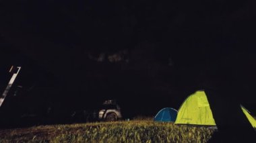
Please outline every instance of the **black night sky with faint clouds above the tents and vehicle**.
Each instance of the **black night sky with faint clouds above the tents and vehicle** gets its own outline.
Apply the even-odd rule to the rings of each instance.
[[[155,115],[209,89],[256,115],[254,19],[254,1],[1,1],[1,81],[22,66],[7,110]]]

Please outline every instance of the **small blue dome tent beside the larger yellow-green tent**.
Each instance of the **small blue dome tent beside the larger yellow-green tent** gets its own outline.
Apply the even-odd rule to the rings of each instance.
[[[166,107],[161,109],[156,116],[154,117],[154,121],[156,122],[175,122],[177,117],[177,110]]]

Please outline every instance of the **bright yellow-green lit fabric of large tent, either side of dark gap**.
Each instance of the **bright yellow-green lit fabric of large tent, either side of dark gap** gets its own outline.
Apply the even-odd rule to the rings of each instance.
[[[256,120],[249,114],[245,107],[241,106],[249,122],[256,128]],[[204,91],[196,91],[181,105],[175,124],[193,124],[204,126],[216,126],[210,104]]]

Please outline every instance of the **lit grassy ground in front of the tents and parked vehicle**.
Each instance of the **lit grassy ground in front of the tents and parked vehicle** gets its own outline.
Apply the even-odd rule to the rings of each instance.
[[[207,142],[207,128],[148,120],[0,130],[0,142]]]

